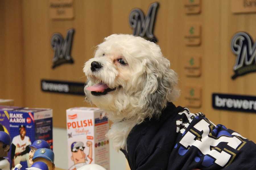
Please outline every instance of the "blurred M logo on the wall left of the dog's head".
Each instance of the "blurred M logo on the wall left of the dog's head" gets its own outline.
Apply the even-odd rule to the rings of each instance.
[[[51,37],[51,47],[54,51],[53,56],[53,65],[52,68],[64,64],[64,63],[74,63],[71,57],[71,48],[73,42],[73,35],[75,33],[75,29],[69,29],[67,31],[66,38],[63,39],[60,33],[54,33]]]

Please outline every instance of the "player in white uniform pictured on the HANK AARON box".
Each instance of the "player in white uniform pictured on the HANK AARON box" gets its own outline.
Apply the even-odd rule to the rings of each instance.
[[[26,136],[26,128],[24,125],[19,127],[20,134],[15,136],[12,141],[11,159],[12,167],[20,163],[20,161],[26,161],[28,167],[29,163],[29,145],[31,141],[28,136]]]

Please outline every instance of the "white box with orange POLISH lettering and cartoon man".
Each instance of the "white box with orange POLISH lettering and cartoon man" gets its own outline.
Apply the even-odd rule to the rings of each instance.
[[[76,107],[67,110],[69,170],[96,163],[109,167],[108,118],[103,110],[93,107]]]

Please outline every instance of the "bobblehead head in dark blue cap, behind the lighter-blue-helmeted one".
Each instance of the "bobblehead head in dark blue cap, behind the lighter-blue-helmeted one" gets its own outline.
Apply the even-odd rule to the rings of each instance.
[[[30,147],[30,151],[29,151],[29,164],[30,165],[33,164],[32,158],[33,158],[36,150],[38,150],[40,148],[50,149],[50,145],[45,140],[36,140],[32,143],[32,145],[29,145],[29,147]]]

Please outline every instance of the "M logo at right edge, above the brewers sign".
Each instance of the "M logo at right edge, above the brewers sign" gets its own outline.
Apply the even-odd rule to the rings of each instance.
[[[256,43],[245,32],[236,33],[231,39],[231,50],[236,55],[232,79],[256,71]]]

